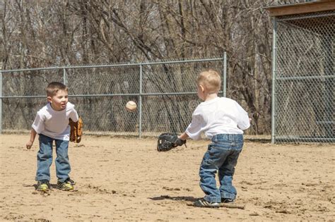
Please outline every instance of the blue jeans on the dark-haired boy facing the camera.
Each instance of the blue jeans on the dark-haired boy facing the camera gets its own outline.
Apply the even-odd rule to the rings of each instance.
[[[52,142],[56,143],[57,158],[56,175],[60,182],[69,178],[71,171],[68,148],[69,141],[56,140],[40,134],[40,150],[37,153],[37,173],[35,180],[50,180],[50,166],[52,164]]]

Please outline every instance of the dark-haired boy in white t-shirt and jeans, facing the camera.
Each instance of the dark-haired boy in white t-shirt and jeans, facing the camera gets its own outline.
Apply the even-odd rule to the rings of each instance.
[[[51,82],[47,86],[47,105],[37,111],[30,132],[30,140],[26,147],[30,149],[36,134],[40,135],[40,150],[37,153],[37,190],[49,190],[50,166],[52,164],[52,143],[56,144],[55,159],[57,186],[61,190],[74,190],[74,180],[71,180],[69,147],[69,118],[78,121],[78,113],[74,104],[69,102],[68,88],[61,82]]]

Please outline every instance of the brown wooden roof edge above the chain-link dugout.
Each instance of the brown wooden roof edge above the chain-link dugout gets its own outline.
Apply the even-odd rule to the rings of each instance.
[[[266,7],[270,16],[289,16],[302,13],[315,13],[321,11],[334,11],[335,0],[309,1],[298,4]]]

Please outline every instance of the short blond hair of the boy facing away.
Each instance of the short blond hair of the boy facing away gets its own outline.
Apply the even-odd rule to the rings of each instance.
[[[218,93],[221,88],[221,77],[215,70],[206,70],[198,75],[196,84],[202,85],[208,93]]]

